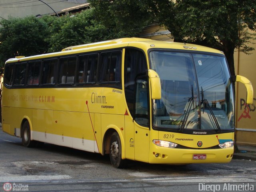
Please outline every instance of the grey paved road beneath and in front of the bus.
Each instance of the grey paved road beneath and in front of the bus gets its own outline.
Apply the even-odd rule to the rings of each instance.
[[[8,183],[20,191],[256,191],[256,161],[187,166],[129,161],[116,169],[108,156],[51,144],[25,148],[20,138],[0,130],[0,191]]]

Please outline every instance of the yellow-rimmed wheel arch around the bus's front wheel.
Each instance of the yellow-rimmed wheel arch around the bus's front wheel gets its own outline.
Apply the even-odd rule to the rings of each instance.
[[[122,146],[122,159],[125,159],[124,136],[123,136],[121,130],[115,125],[108,126],[105,131],[103,141],[102,141],[102,155],[109,154],[110,138],[114,132],[117,132],[117,134],[120,138],[121,146]]]

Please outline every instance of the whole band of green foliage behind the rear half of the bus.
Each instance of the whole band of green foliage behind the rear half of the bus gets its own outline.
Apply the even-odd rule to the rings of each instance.
[[[58,52],[67,46],[119,38],[114,31],[95,20],[94,9],[61,18],[10,17],[0,21],[0,66],[18,55]]]

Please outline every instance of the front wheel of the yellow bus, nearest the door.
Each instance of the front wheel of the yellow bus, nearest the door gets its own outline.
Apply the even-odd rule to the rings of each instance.
[[[110,138],[109,156],[113,167],[122,168],[124,160],[122,160],[121,141],[117,132],[114,132]]]

